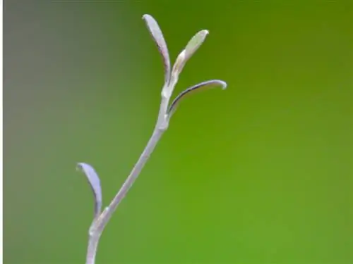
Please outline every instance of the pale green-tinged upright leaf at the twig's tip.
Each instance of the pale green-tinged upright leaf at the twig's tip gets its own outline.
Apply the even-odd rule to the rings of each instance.
[[[201,30],[190,39],[185,49],[179,54],[177,61],[175,61],[172,75],[175,76],[181,73],[181,70],[183,70],[186,61],[188,61],[189,58],[193,56],[193,54],[198,50],[201,44],[203,44],[208,33],[208,30]]]

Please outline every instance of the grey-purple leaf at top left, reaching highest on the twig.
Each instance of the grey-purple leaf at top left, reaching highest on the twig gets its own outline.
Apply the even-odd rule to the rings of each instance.
[[[148,31],[150,32],[152,39],[155,41],[157,45],[158,51],[162,55],[163,64],[164,64],[164,84],[167,84],[170,79],[170,59],[169,59],[169,51],[167,48],[167,43],[164,40],[162,30],[160,30],[160,26],[158,25],[155,18],[152,18],[151,15],[143,15],[143,20],[148,27]]]

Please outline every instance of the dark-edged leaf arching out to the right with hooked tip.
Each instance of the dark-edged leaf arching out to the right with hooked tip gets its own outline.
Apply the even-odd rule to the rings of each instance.
[[[222,89],[227,88],[227,83],[222,81],[222,80],[209,80],[205,82],[201,82],[199,84],[194,85],[193,87],[190,87],[184,92],[181,92],[171,103],[168,109],[168,116],[169,118],[173,115],[173,113],[177,110],[177,107],[179,106],[179,103],[185,99],[187,96],[194,94],[196,92],[201,92],[207,89],[211,89],[214,87],[221,87]]]

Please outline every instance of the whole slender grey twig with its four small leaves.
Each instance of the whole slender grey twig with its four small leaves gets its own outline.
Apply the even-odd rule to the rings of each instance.
[[[206,82],[201,82],[200,84],[196,84],[193,87],[186,89],[184,92],[181,92],[181,94],[179,94],[179,96],[177,96],[176,99],[174,99],[174,101],[169,106],[169,101],[172,97],[174,87],[178,82],[181,70],[184,68],[186,61],[188,61],[189,58],[195,53],[195,51],[201,46],[201,44],[205,40],[205,37],[208,34],[208,31],[201,30],[190,40],[190,42],[186,45],[186,48],[181,51],[181,53],[177,57],[177,61],[174,63],[174,67],[171,70],[167,44],[164,41],[164,37],[162,31],[160,30],[160,27],[158,26],[155,19],[152,18],[152,16],[150,15],[143,15],[143,19],[147,24],[148,30],[150,31],[152,38],[157,44],[158,50],[162,55],[164,63],[164,86],[161,94],[162,99],[160,103],[160,111],[158,114],[157,123],[155,125],[155,130],[153,131],[147,146],[145,146],[143,153],[138,159],[136,165],[133,167],[133,170],[131,170],[131,173],[130,175],[128,175],[123,186],[118,191],[109,206],[107,206],[103,210],[103,212],[101,212],[102,190],[100,187],[100,178],[90,165],[86,163],[78,163],[79,168],[83,170],[83,172],[85,172],[85,175],[87,176],[88,181],[90,182],[90,185],[92,187],[93,194],[95,195],[95,218],[92,222],[92,225],[90,226],[89,231],[86,264],[95,264],[97,246],[104,230],[104,227],[107,225],[110,218],[112,218],[114,211],[119,206],[121,200],[124,199],[124,196],[126,196],[126,193],[133,185],[133,182],[135,182],[135,180],[137,179],[138,175],[140,174],[140,171],[143,169],[143,166],[148,161],[148,158],[150,158],[150,154],[155,149],[157,143],[160,141],[162,134],[167,130],[169,126],[169,120],[177,109],[179,102],[184,99],[186,94],[192,94],[196,90],[201,91],[204,88],[211,88],[215,86],[220,86],[225,89],[225,87],[227,86],[227,84],[221,80],[210,80]]]

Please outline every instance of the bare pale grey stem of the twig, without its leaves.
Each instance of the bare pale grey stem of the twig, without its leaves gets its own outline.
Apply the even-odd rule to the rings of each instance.
[[[145,146],[143,153],[138,158],[136,165],[130,172],[130,175],[126,178],[124,184],[119,189],[118,193],[114,197],[114,199],[110,202],[109,206],[105,208],[102,214],[97,218],[97,220],[93,221],[90,227],[90,237],[88,239],[88,251],[86,264],[95,264],[95,255],[97,253],[98,243],[100,241],[100,236],[104,230],[104,227],[109,222],[110,218],[116,208],[119,206],[119,203],[126,196],[128,190],[132,187],[133,182],[136,181],[138,175],[140,175],[141,170],[143,169],[145,163],[150,158],[151,153],[155,149],[155,146],[160,141],[162,134],[167,130],[168,127],[168,119],[167,119],[167,106],[169,103],[170,96],[164,96],[162,94],[162,101],[160,104],[160,113],[158,114],[157,124],[155,126],[155,130],[148,141],[148,144]]]

